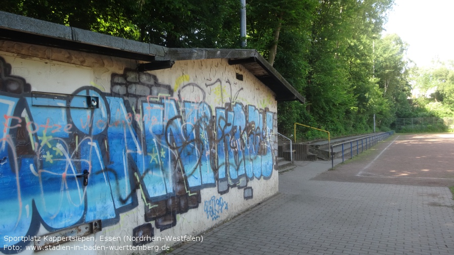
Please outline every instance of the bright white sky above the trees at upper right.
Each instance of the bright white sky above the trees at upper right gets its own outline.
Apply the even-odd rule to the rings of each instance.
[[[410,44],[407,56],[419,67],[434,58],[454,60],[454,0],[394,0],[385,24]]]

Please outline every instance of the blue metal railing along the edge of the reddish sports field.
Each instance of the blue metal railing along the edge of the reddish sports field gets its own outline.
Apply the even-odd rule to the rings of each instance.
[[[379,134],[373,134],[365,137],[361,137],[358,139],[354,139],[351,141],[346,141],[338,144],[333,144],[331,145],[331,168],[334,168],[334,158],[335,158],[335,153],[334,153],[334,148],[335,147],[342,147],[341,149],[341,154],[342,154],[342,162],[344,162],[344,156],[345,152],[349,151],[349,156],[350,159],[353,158],[353,149],[356,149],[356,155],[359,154],[359,152],[364,151],[365,149],[367,150],[368,148],[371,148],[375,144],[377,144],[379,141],[383,141],[389,136],[393,135],[394,131],[388,131],[384,133],[379,133]],[[345,144],[347,146],[345,146]],[[359,151],[361,150],[361,151]]]

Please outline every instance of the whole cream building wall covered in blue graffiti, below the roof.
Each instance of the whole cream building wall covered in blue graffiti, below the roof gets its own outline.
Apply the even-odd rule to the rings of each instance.
[[[3,253],[32,253],[31,239],[76,236],[68,231],[96,220],[100,232],[40,254],[157,253],[278,191],[277,103],[241,66],[177,61],[138,73],[132,60],[0,49]]]

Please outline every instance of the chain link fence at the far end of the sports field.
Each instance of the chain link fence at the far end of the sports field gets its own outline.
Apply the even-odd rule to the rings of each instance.
[[[454,117],[397,118],[396,132],[448,132],[454,131]]]

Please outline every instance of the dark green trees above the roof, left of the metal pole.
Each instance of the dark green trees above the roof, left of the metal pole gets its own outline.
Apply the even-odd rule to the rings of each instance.
[[[237,0],[6,0],[0,10],[168,47],[239,46]]]

